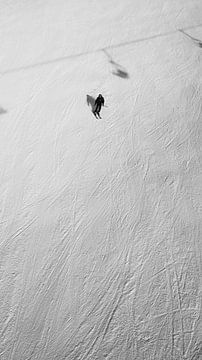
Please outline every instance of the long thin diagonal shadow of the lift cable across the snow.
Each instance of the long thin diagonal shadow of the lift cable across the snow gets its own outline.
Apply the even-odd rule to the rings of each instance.
[[[96,52],[100,52],[100,51],[104,51],[104,50],[106,51],[107,49],[113,49],[113,48],[115,49],[115,48],[130,45],[130,44],[136,44],[136,43],[139,43],[139,42],[149,41],[149,40],[157,39],[159,37],[172,35],[172,34],[177,33],[179,30],[185,31],[185,30],[196,29],[198,27],[202,27],[202,24],[193,25],[193,26],[187,26],[187,27],[184,27],[182,29],[175,29],[175,30],[168,31],[168,32],[165,32],[165,33],[155,34],[155,35],[151,35],[151,36],[147,36],[147,37],[144,37],[144,38],[139,38],[139,39],[135,39],[135,40],[131,40],[131,41],[125,41],[124,43],[105,46],[104,48],[95,49],[95,50],[92,50],[92,51],[86,51],[86,52],[82,52],[82,53],[78,53],[78,54],[67,55],[67,56],[63,56],[63,57],[59,57],[59,58],[55,58],[55,59],[51,59],[51,60],[38,62],[38,63],[35,63],[35,64],[19,66],[19,67],[16,67],[16,68],[11,68],[11,69],[1,71],[0,73],[1,73],[1,75],[6,75],[6,74],[21,71],[21,70],[29,70],[29,69],[37,68],[37,67],[44,66],[44,65],[49,65],[49,64],[54,64],[54,63],[57,63],[57,62],[66,61],[68,59],[73,59],[73,58],[78,58],[78,57],[89,55],[89,54],[94,54]],[[117,76],[120,76],[120,75],[123,75],[121,73],[121,71],[119,72],[119,74]]]

